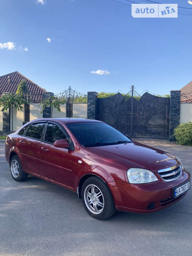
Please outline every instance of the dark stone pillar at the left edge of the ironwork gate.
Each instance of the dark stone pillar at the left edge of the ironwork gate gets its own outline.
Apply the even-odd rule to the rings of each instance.
[[[87,118],[97,118],[97,92],[87,92]]]

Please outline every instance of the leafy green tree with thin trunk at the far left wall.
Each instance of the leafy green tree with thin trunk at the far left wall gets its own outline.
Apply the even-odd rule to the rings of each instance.
[[[22,110],[24,103],[26,103],[26,100],[22,98],[20,95],[14,94],[14,93],[4,94],[0,98],[0,107],[2,107],[1,111],[7,112],[7,109],[12,108],[12,131],[13,131],[13,106],[18,110]]]

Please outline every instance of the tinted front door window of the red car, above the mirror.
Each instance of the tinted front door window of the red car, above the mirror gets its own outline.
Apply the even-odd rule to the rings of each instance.
[[[56,124],[48,124],[45,133],[45,141],[54,143],[56,140],[66,140],[67,136],[61,131]]]

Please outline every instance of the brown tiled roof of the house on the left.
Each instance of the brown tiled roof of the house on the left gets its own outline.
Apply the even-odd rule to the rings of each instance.
[[[18,71],[0,76],[0,96],[3,93],[15,93],[17,91],[18,84],[22,79],[26,80],[27,82],[28,90],[31,95],[31,101],[40,102],[42,100],[43,92],[46,92],[46,90],[33,83]]]

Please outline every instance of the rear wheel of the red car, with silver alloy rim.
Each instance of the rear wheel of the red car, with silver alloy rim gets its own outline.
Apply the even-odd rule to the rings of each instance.
[[[27,179],[28,173],[23,172],[21,162],[18,156],[13,156],[10,161],[11,175],[16,181],[23,181]]]

